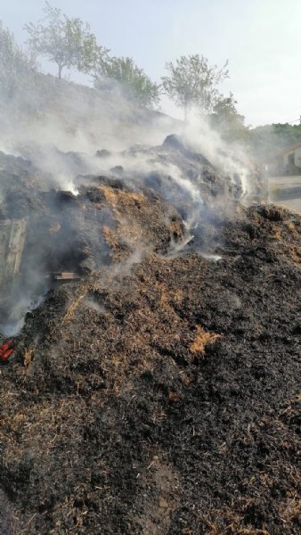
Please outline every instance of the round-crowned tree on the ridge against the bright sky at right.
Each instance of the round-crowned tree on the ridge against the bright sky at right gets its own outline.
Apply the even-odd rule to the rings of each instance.
[[[185,120],[191,106],[197,106],[203,113],[213,110],[220,96],[217,86],[229,78],[227,64],[219,69],[199,54],[181,56],[175,63],[167,63],[169,75],[162,77],[162,84],[169,98],[183,108]]]

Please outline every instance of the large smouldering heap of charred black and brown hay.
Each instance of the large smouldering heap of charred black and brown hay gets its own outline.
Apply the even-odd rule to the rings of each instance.
[[[81,279],[49,289],[0,370],[0,532],[300,533],[300,215],[242,207],[199,161],[189,239],[168,177],[74,196],[9,162],[23,276],[35,252]]]

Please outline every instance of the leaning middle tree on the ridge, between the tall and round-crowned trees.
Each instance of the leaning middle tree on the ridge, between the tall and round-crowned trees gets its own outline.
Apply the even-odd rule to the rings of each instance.
[[[108,93],[126,96],[127,100],[145,107],[159,102],[159,86],[129,57],[112,57],[102,62],[94,76],[94,86]]]

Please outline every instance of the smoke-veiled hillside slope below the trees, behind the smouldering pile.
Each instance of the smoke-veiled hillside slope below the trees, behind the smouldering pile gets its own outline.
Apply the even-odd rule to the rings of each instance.
[[[35,83],[1,106],[4,139],[19,144],[38,141],[62,151],[117,150],[130,144],[159,144],[180,121],[51,75],[35,74]],[[7,146],[3,147],[10,148]]]

